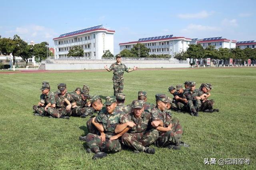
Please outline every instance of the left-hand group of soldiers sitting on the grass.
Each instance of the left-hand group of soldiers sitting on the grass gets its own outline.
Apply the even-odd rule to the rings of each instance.
[[[44,81],[40,90],[40,102],[33,106],[35,116],[69,119],[70,116],[85,118],[94,113],[88,101],[90,88],[87,85],[68,93],[66,84],[60,83],[58,91],[53,93],[50,91],[50,84]]]

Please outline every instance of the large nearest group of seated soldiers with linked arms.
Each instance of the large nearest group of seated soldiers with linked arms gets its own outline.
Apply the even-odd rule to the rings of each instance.
[[[150,144],[169,149],[189,147],[181,141],[183,130],[179,120],[172,119],[167,109],[170,98],[164,94],[156,94],[155,97],[156,106],[146,102],[145,91],[139,91],[138,100],[130,105],[124,105],[125,95],[122,93],[106,97],[104,104],[98,95],[92,96],[90,103],[98,114],[86,123],[89,133],[80,136],[88,146],[86,151],[95,153],[92,159],[103,158],[109,152],[119,152],[123,146],[131,148],[134,153],[148,154],[155,153]]]

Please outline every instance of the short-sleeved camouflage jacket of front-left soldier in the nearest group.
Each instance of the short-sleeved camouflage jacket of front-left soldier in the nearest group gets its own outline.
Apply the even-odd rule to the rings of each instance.
[[[104,132],[108,135],[114,135],[116,125],[128,122],[124,112],[115,109],[112,114],[109,114],[105,109],[102,109],[96,116],[96,123],[102,124]]]

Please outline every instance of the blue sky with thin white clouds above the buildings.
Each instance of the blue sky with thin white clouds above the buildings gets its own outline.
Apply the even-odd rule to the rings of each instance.
[[[53,46],[60,34],[103,24],[116,31],[114,54],[121,42],[170,34],[256,40],[255,9],[255,0],[9,0],[1,2],[0,35]]]

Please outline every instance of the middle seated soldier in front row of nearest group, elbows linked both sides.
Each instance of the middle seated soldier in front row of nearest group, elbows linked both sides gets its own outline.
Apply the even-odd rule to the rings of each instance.
[[[129,122],[116,127],[116,132],[120,132],[124,128],[129,128],[128,132],[122,135],[122,143],[134,150],[134,153],[146,152],[154,154],[155,149],[148,147],[158,138],[158,131],[154,128],[147,130],[151,116],[145,112],[143,101],[132,101],[133,113],[128,115]],[[162,121],[154,121],[152,124],[158,126]]]

